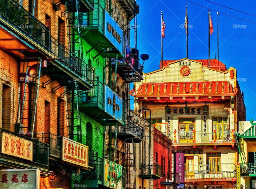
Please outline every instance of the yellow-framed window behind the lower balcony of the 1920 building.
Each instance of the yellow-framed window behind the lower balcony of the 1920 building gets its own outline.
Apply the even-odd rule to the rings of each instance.
[[[207,153],[206,169],[208,173],[221,173],[221,152]]]

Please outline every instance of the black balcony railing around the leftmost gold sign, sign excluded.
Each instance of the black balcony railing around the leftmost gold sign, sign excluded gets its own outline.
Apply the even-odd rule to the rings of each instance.
[[[28,161],[26,159],[14,157],[14,156],[8,156],[0,153],[1,161],[16,162],[17,164],[21,164],[21,165],[24,164],[24,166],[29,165],[37,169],[48,170],[49,160],[47,157],[48,157],[49,145],[41,141],[32,139],[30,137],[26,137],[24,135],[20,135],[18,133],[14,133],[1,128],[0,128],[0,141],[2,141],[2,132],[33,142],[33,152],[31,152],[33,153],[33,161]]]

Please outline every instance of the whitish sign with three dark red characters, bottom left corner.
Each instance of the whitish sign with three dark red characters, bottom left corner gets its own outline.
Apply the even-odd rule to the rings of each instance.
[[[39,188],[40,171],[38,169],[0,170],[0,189],[4,188]]]

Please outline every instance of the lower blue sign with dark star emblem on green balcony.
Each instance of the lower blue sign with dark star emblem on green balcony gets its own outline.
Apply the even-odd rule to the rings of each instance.
[[[105,85],[105,112],[122,123],[123,100]]]

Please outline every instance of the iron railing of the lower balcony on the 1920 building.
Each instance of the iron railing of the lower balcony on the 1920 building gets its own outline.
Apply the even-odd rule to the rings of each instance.
[[[234,163],[222,163],[221,165],[195,164],[192,169],[193,170],[190,171],[185,170],[185,179],[214,179],[236,177],[236,166]]]

